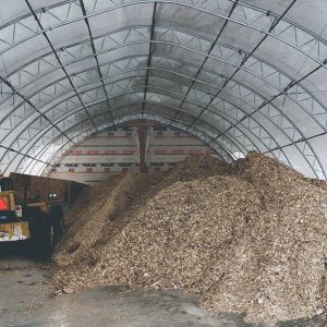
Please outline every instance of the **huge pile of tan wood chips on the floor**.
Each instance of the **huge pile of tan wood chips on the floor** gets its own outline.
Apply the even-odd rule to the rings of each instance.
[[[182,288],[251,322],[327,310],[327,191],[257,153],[114,177],[69,213],[58,289]]]

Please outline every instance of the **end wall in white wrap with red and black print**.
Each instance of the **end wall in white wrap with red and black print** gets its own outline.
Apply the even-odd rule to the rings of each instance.
[[[129,124],[100,131],[70,150],[50,178],[96,185],[110,175],[140,171],[140,126]],[[145,147],[147,171],[166,171],[192,154],[215,156],[199,140],[180,130],[148,124]]]

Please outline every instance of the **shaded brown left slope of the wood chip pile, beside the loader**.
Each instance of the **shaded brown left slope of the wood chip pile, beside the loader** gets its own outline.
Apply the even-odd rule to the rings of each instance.
[[[99,186],[85,189],[65,214],[66,232],[56,250],[61,266],[77,268],[97,261],[97,251],[129,222],[129,210],[142,205],[161,174],[112,175]]]

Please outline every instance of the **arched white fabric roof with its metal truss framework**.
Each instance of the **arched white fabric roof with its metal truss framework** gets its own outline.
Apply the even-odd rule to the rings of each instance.
[[[326,179],[324,0],[0,7],[2,173],[47,174],[93,133],[152,120],[225,161],[258,150]]]

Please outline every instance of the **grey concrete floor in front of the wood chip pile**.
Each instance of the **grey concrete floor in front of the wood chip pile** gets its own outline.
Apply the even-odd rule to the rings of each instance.
[[[50,296],[51,264],[16,255],[0,257],[0,326],[234,327],[240,314],[213,314],[181,291],[107,287]],[[277,326],[324,326],[318,319]]]

